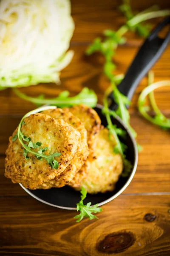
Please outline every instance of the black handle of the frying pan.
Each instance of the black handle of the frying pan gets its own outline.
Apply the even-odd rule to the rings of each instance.
[[[167,17],[153,30],[150,36],[144,41],[144,44],[136,54],[132,64],[130,65],[124,79],[118,85],[119,91],[131,100],[137,85],[142,78],[147,74],[150,68],[156,63],[161,54],[164,52],[168,43],[170,42],[170,31],[167,33],[166,38],[159,38],[158,33],[167,24],[170,23],[170,17]],[[113,94],[109,95],[112,100],[110,105],[111,109],[116,108],[113,100]]]

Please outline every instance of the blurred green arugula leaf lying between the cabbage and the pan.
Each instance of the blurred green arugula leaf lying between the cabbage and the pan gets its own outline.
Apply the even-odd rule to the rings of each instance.
[[[58,97],[53,99],[45,99],[43,95],[38,97],[31,97],[24,93],[21,93],[17,88],[13,89],[14,93],[19,96],[21,99],[25,99],[29,102],[32,102],[38,106],[40,105],[55,105],[59,108],[71,107],[73,105],[85,104],[91,108],[94,108],[97,103],[97,96],[94,90],[91,90],[87,87],[83,88],[80,93],[76,96],[69,97],[68,91],[63,91],[59,94]]]

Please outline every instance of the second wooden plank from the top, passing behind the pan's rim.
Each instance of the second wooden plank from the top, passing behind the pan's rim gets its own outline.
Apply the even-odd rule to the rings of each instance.
[[[86,86],[96,91],[99,103],[102,103],[104,92],[109,86],[108,80],[102,73],[102,64],[104,60],[99,54],[86,57],[84,54],[86,48],[87,47],[85,45],[73,47],[75,56],[71,64],[62,71],[62,83],[60,86],[56,84],[40,84],[37,86],[22,88],[20,90],[33,97],[42,93],[47,97],[54,97],[62,90],[69,90],[71,95],[75,95]],[[118,48],[114,58],[117,65],[116,74],[126,72],[127,67],[130,65],[130,62],[136,54],[136,51],[137,47],[129,46],[127,48],[127,46],[121,46]],[[170,79],[169,59],[170,47],[168,47],[161,59],[153,67],[153,71],[155,72],[155,81]],[[131,112],[136,111],[139,93],[146,85],[147,79],[145,78],[140,83],[136,90],[136,94],[133,97],[132,108],[130,109]],[[169,111],[170,87],[160,88],[159,92],[156,93],[156,99],[162,111]],[[10,88],[0,91],[0,105],[0,115],[16,114],[22,116],[28,111],[36,108],[36,105],[18,98]]]

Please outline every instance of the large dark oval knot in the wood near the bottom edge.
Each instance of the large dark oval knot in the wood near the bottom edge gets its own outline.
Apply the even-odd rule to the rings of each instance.
[[[135,242],[131,232],[111,233],[99,242],[97,250],[104,253],[120,253]]]

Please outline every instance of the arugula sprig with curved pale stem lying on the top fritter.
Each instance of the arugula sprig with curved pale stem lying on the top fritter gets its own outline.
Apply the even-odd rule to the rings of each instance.
[[[41,112],[41,111],[44,111],[46,109],[55,109],[56,106],[45,106],[45,107],[41,107],[41,108],[37,108],[33,111],[30,111],[28,112],[25,116],[23,116],[23,118],[21,119],[19,125],[18,125],[18,130],[17,130],[17,136],[14,135],[14,137],[12,138],[12,140],[16,140],[17,137],[21,143],[21,145],[23,146],[24,148],[24,157],[26,158],[26,160],[29,159],[29,157],[27,157],[27,154],[28,152],[31,153],[31,154],[34,154],[37,159],[39,160],[42,160],[42,159],[45,159],[47,160],[47,162],[49,163],[49,165],[53,168],[53,169],[57,169],[59,164],[57,162],[57,160],[54,159],[54,157],[58,157],[61,155],[61,153],[58,153],[58,152],[55,152],[54,154],[49,154],[49,155],[45,155],[44,152],[48,150],[48,147],[45,147],[45,148],[40,148],[41,146],[41,143],[40,142],[37,142],[37,143],[33,143],[31,141],[31,138],[30,137],[27,137],[25,136],[22,132],[21,132],[21,126],[23,125],[23,122],[24,122],[24,119],[31,115],[31,114],[34,114],[34,113],[38,113],[38,112]],[[29,142],[28,145],[23,143],[23,140],[26,141],[26,142]],[[35,151],[32,151],[31,148],[40,148],[37,152]]]

